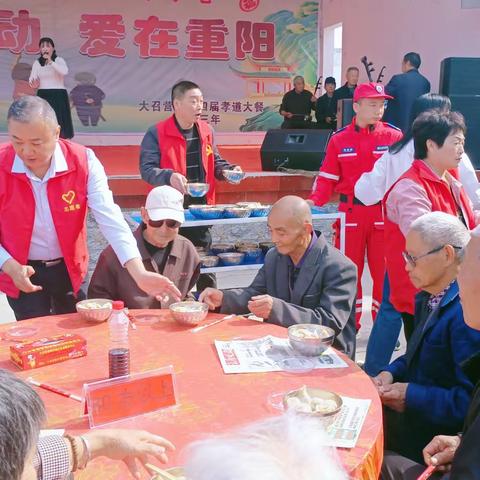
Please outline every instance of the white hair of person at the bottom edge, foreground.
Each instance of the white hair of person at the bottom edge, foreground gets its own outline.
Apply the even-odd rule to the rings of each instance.
[[[191,480],[347,480],[318,418],[286,414],[187,450]]]

